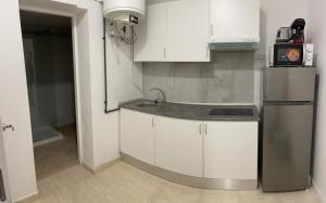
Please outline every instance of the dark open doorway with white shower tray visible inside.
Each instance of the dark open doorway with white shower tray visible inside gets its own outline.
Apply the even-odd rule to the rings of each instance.
[[[79,164],[72,18],[21,11],[37,179]]]

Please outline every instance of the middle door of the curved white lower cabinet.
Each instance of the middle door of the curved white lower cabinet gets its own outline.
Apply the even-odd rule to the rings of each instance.
[[[155,117],[155,165],[183,175],[202,177],[201,122]]]

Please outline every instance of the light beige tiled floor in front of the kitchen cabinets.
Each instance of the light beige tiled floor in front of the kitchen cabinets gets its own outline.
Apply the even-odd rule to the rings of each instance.
[[[314,190],[266,194],[261,191],[213,191],[163,180],[128,164],[93,175],[74,165],[38,181],[35,203],[318,203]]]

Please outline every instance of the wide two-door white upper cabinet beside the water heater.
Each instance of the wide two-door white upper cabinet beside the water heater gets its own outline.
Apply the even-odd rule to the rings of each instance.
[[[210,0],[151,0],[136,26],[136,62],[209,62]]]

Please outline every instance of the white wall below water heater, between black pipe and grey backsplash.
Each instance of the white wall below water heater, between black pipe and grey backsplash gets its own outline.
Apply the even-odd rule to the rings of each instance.
[[[115,31],[114,27],[106,22],[108,110],[143,97],[142,64],[133,62],[133,46],[110,36]]]

